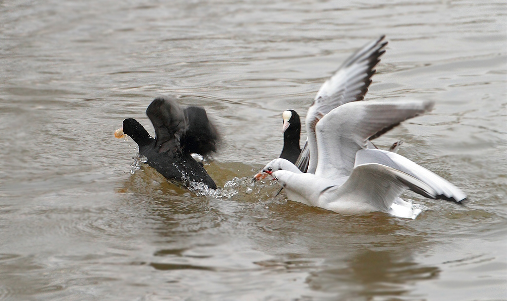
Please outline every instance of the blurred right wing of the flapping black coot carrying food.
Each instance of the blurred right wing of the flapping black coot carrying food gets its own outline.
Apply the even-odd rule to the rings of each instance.
[[[189,106],[184,110],[187,128],[180,140],[184,153],[196,153],[205,156],[216,152],[219,134],[209,121],[206,110],[202,107]]]

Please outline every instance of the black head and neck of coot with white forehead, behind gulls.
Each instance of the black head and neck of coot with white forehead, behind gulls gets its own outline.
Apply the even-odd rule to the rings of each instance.
[[[288,120],[285,120],[284,116],[283,149],[280,158],[296,164],[296,160],[298,160],[299,154],[301,153],[301,147],[299,146],[301,121],[295,110],[286,110],[283,112],[283,115],[286,115],[287,112],[290,112],[291,116]],[[288,123],[287,127],[285,127],[286,123]]]

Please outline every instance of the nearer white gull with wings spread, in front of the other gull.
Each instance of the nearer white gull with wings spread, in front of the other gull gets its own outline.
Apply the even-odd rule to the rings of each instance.
[[[284,187],[288,199],[340,213],[384,211],[415,218],[420,210],[399,198],[407,189],[461,202],[465,194],[437,174],[396,153],[368,148],[372,137],[432,106],[433,102],[420,100],[345,103],[315,123],[314,174],[275,159],[256,177],[269,174]]]

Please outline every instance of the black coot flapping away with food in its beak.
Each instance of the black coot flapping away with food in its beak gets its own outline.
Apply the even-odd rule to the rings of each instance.
[[[211,189],[216,184],[201,163],[190,154],[206,156],[216,151],[218,134],[201,107],[182,110],[174,98],[158,97],[146,114],[155,128],[155,139],[135,119],[123,121],[123,132],[139,146],[139,155],[146,163],[169,180],[188,186],[201,182]]]

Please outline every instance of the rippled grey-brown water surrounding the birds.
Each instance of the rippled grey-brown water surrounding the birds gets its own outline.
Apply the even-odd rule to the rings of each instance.
[[[0,1],[0,299],[507,299],[504,1]],[[342,215],[251,182],[357,48],[367,99],[436,102],[376,140],[468,200]],[[113,132],[158,95],[222,135],[214,195],[138,166]],[[303,134],[305,137],[305,134]],[[132,172],[132,173],[131,173]]]

